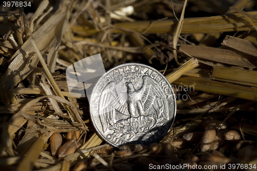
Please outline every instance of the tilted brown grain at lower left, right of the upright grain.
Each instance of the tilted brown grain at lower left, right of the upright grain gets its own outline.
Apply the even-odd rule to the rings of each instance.
[[[78,143],[75,140],[67,141],[65,144],[63,144],[60,147],[59,152],[58,152],[58,157],[60,159],[63,159],[70,154],[74,154],[77,149],[77,145],[78,145]]]

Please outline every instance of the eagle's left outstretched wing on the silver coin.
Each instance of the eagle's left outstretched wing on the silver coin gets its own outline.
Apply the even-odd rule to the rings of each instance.
[[[126,93],[117,91],[115,83],[109,82],[103,89],[99,100],[99,117],[103,132],[114,123],[116,110],[130,116],[127,110]]]

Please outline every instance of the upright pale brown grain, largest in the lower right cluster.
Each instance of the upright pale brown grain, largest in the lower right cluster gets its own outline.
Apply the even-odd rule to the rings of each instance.
[[[204,131],[203,137],[200,142],[201,152],[208,151],[216,138],[216,130],[213,127],[207,128]]]

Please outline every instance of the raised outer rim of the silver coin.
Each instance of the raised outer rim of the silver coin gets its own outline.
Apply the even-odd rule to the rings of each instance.
[[[174,91],[173,91],[173,88],[172,88],[170,82],[167,80],[166,77],[163,76],[162,73],[160,73],[159,71],[157,71],[155,68],[153,68],[153,67],[151,67],[151,66],[148,66],[148,65],[145,65],[145,64],[140,64],[140,63],[125,63],[125,64],[117,65],[117,66],[115,66],[115,67],[109,69],[107,72],[105,72],[105,73],[102,75],[102,77],[97,81],[97,83],[95,84],[95,86],[94,86],[94,88],[93,88],[93,90],[92,90],[91,98],[93,97],[92,94],[93,94],[93,92],[95,92],[98,83],[99,83],[109,72],[115,70],[116,68],[120,68],[120,67],[128,66],[128,65],[139,65],[139,66],[143,66],[143,67],[152,69],[153,71],[157,72],[158,75],[160,75],[161,78],[164,79],[164,80],[167,82],[168,86],[170,87],[170,89],[171,89],[171,91],[172,91],[173,99],[175,99],[175,100],[173,100],[173,102],[174,102],[174,117],[173,117],[173,119],[172,119],[172,123],[171,123],[171,125],[170,125],[170,127],[169,127],[167,133],[166,133],[166,134],[163,134],[163,135],[159,138],[159,141],[160,141],[160,140],[162,140],[162,139],[170,132],[170,130],[171,130],[171,128],[172,128],[172,125],[173,125],[174,120],[175,120],[175,117],[176,117],[177,102],[176,102],[175,93],[174,93]],[[91,110],[91,99],[89,100],[89,111],[90,111],[91,123],[93,123],[93,125],[94,125],[94,127],[95,127],[95,129],[96,129],[96,131],[97,131],[97,134],[98,134],[103,140],[105,140],[107,143],[109,143],[109,144],[111,144],[111,145],[113,145],[113,146],[115,146],[115,147],[120,147],[120,146],[122,146],[122,145],[125,145],[125,144],[116,145],[116,144],[112,143],[111,141],[107,140],[107,138],[106,138],[105,136],[103,136],[103,134],[101,133],[101,131],[99,130],[99,128],[96,126],[96,123],[95,123],[94,118],[93,118],[93,114],[92,114],[92,110]],[[99,113],[98,113],[98,115],[99,115]],[[159,142],[159,141],[158,141],[158,142]]]

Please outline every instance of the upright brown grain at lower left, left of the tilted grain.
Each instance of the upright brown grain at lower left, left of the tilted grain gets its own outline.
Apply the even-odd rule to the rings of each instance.
[[[52,156],[57,156],[58,151],[62,145],[62,135],[59,132],[54,132],[50,137],[50,148]]]

